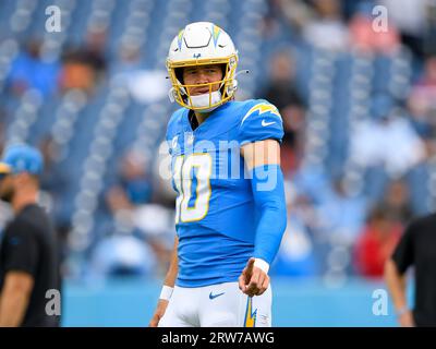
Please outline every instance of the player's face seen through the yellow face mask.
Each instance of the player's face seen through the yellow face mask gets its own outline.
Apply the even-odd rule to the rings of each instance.
[[[218,82],[211,85],[211,91],[215,92],[219,89],[220,81],[222,80],[222,70],[219,64],[210,65],[197,65],[197,67],[186,67],[183,69],[183,84],[184,85],[199,85],[186,87],[187,93],[191,96],[197,96],[209,93],[210,85],[214,82]]]

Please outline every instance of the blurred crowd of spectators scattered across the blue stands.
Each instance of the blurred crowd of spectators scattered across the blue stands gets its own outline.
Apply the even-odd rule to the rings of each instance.
[[[267,1],[268,10],[259,26],[263,45],[274,49],[264,60],[268,65],[262,67],[267,76],[253,97],[269,100],[282,116],[281,165],[289,207],[288,229],[272,274],[325,275],[332,267],[329,265],[331,251],[340,245],[348,257],[343,262],[343,273],[382,277],[384,263],[403,228],[413,216],[422,214],[411,204],[413,188],[407,174],[431,159],[436,151],[436,20],[431,15],[435,5],[429,1],[413,1],[413,11],[403,10],[407,2]],[[389,14],[388,29],[383,33],[375,33],[373,28],[372,10],[376,4],[386,7]],[[287,46],[283,46],[283,38],[286,44],[289,40]],[[323,166],[306,166],[305,132],[311,100],[295,80],[296,72],[302,69],[292,50],[295,41],[334,52],[389,56],[400,47],[411,51],[410,91],[401,100],[388,98],[392,101],[388,108],[377,109],[378,112],[383,110],[379,116],[363,121],[349,135],[349,156],[364,169],[377,166],[386,174],[377,200],[365,192],[350,194],[344,178],[330,176]],[[21,96],[33,88],[49,99],[55,94],[78,88],[93,98],[99,84],[114,80],[128,83],[132,96],[148,103],[144,84],[165,80],[164,76],[142,68],[141,52],[134,47],[123,47],[119,59],[109,59],[106,44],[105,33],[88,33],[83,46],[66,47],[58,61],[46,62],[40,57],[39,43],[31,40],[12,64],[7,93]],[[159,99],[159,91],[166,85],[156,86],[154,98]],[[380,98],[385,96],[383,92]],[[167,101],[162,99],[162,103]],[[5,120],[9,119],[1,105],[0,117],[0,139],[4,143]],[[56,146],[49,137],[39,146],[46,161],[41,189],[50,197],[68,257],[71,225],[64,216],[57,215],[62,192],[69,185],[68,176],[63,173],[68,169],[51,166]],[[119,166],[112,169],[117,179],[104,191],[99,205],[113,225],[90,251],[87,262],[90,273],[153,275],[166,269],[174,234],[174,193],[167,181],[156,176],[153,166],[154,163],[136,149],[128,149],[119,159]]]

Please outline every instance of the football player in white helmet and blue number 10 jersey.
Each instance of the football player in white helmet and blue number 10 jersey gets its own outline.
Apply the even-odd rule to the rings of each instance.
[[[235,101],[238,51],[208,22],[173,39],[167,129],[177,237],[150,326],[271,326],[268,269],[287,225],[277,108]]]

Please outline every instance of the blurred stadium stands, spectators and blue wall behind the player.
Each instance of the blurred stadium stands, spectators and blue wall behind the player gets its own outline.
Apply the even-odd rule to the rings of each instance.
[[[46,31],[50,5],[59,33]],[[238,98],[267,98],[283,117],[274,325],[396,325],[390,305],[373,314],[373,292],[404,225],[435,209],[435,1],[0,0],[0,144],[44,153],[63,325],[145,326],[153,314],[174,234],[159,176],[177,108],[165,59],[194,21],[235,41],[251,71]],[[9,217],[1,204],[1,226]]]

